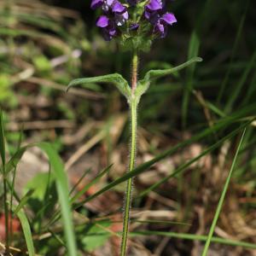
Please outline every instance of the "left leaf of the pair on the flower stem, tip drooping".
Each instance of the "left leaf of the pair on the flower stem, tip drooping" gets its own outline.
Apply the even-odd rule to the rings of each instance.
[[[123,96],[127,99],[131,96],[131,88],[128,82],[119,74],[113,73],[104,76],[98,76],[94,78],[84,78],[84,79],[75,79],[70,84],[68,84],[67,90],[72,86],[78,84],[90,84],[90,83],[108,83],[115,85]]]

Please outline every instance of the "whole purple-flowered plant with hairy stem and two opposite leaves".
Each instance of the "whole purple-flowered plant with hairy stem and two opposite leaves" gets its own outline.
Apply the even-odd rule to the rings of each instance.
[[[119,73],[94,78],[75,79],[69,86],[85,83],[107,83],[115,85],[125,96],[131,112],[131,145],[128,172],[135,168],[137,152],[137,106],[141,96],[155,80],[175,73],[183,67],[201,61],[195,57],[180,66],[165,70],[150,70],[143,79],[137,78],[138,54],[150,49],[155,38],[165,38],[169,26],[177,22],[175,15],[167,11],[169,0],[92,0],[92,9],[102,9],[102,15],[96,20],[96,26],[102,29],[105,40],[118,40],[124,49],[131,51],[131,84]],[[128,180],[125,194],[123,234],[120,255],[126,255],[131,210],[132,178]]]

